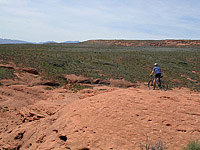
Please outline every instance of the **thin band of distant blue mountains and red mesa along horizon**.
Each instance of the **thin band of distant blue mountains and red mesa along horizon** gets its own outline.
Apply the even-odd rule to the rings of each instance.
[[[0,44],[60,44],[60,43],[80,43],[80,41],[46,41],[46,42],[27,42],[21,40],[2,39]],[[81,42],[89,45],[105,46],[132,46],[132,47],[200,47],[200,40],[89,40]]]

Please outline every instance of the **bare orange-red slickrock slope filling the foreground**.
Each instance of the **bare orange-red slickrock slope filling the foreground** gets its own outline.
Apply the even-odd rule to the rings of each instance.
[[[0,86],[0,149],[140,150],[148,136],[179,150],[200,138],[198,92],[95,86],[75,93],[47,90],[39,75],[26,75]]]

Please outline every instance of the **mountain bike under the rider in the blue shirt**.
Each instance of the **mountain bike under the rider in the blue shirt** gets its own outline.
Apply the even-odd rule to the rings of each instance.
[[[156,79],[156,85],[153,85],[154,77],[151,80],[149,80],[149,82],[148,82],[149,89],[153,90],[156,88],[160,88],[161,90],[167,91],[168,84],[166,81],[163,81],[162,78],[163,78],[163,76],[160,77],[160,80],[159,80],[159,78]]]

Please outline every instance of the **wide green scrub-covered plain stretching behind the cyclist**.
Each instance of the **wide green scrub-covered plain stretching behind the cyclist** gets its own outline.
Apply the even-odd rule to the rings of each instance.
[[[170,87],[200,90],[200,49],[172,47],[117,47],[105,45],[0,45],[0,60],[36,68],[47,79],[65,84],[64,74],[91,78],[147,82],[154,62],[160,64]],[[0,68],[0,79],[13,78]]]

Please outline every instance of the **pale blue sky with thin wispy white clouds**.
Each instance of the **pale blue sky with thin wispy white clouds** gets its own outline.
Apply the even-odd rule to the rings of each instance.
[[[0,38],[200,39],[200,1],[0,0]]]

